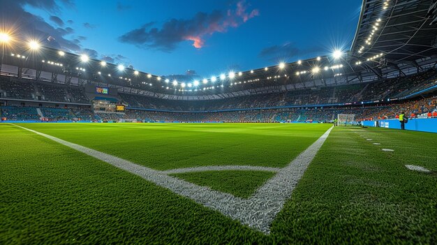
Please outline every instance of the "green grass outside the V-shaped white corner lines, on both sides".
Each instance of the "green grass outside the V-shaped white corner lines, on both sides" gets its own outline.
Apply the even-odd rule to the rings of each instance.
[[[405,144],[403,136],[389,140],[384,129],[374,131],[394,149]],[[367,133],[373,129],[334,128],[266,236],[0,124],[0,244],[437,244],[436,170],[406,169],[394,158],[398,150],[380,151],[359,136]],[[432,137],[411,133],[403,149],[408,161],[435,163],[434,151],[413,143]]]

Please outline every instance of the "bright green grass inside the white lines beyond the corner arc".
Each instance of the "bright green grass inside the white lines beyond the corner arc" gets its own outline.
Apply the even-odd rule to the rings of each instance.
[[[20,125],[20,124],[19,124]],[[205,165],[281,168],[330,124],[21,124],[156,170]]]

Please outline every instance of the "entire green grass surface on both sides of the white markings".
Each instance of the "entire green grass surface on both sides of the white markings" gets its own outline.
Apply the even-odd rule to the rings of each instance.
[[[172,170],[282,168],[331,125],[20,126]],[[0,244],[437,244],[432,133],[334,128],[269,235],[22,128],[0,124],[0,139]],[[248,198],[273,175],[223,170],[172,176]]]

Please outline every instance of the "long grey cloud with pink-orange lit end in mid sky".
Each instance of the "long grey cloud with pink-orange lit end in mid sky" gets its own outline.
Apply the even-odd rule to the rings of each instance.
[[[156,22],[143,24],[138,29],[128,31],[119,37],[121,43],[130,43],[138,47],[171,52],[186,40],[193,42],[193,47],[205,46],[205,39],[214,33],[225,33],[230,28],[237,28],[260,11],[247,10],[245,1],[239,1],[234,9],[225,12],[214,10],[212,13],[199,12],[189,20],[171,19],[156,27]]]

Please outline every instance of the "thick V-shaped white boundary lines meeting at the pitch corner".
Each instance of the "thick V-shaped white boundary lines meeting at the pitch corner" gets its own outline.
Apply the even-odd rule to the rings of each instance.
[[[332,128],[334,128],[329,128],[316,142],[311,144],[311,146],[291,161],[290,164],[279,170],[264,186],[258,188],[251,198],[243,199],[228,193],[214,191],[205,186],[198,186],[182,179],[170,177],[163,174],[162,171],[152,170],[151,168],[126,161],[117,156],[82,147],[79,144],[61,140],[45,133],[40,133],[15,124],[11,125],[36,133],[59,144],[64,144],[66,147],[70,147],[109,163],[121,170],[126,170],[134,175],[138,175],[158,186],[168,188],[174,193],[190,198],[200,205],[220,211],[225,216],[238,220],[265,234],[269,234],[270,225],[274,221],[276,214],[281,211],[286,200],[290,198],[292,191],[304,175],[309,163],[313,161],[314,156],[316,156],[318,150],[322,147],[329,133],[332,131]]]

